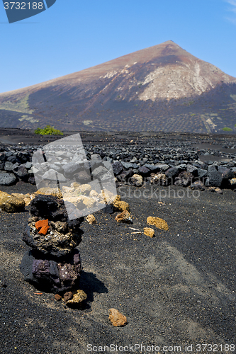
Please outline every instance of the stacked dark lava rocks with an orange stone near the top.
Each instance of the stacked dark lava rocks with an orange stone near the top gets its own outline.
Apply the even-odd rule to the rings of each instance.
[[[77,288],[82,266],[75,247],[82,240],[83,219],[69,220],[63,200],[52,195],[37,195],[30,202],[23,241],[32,249],[20,267],[25,280],[47,292]]]

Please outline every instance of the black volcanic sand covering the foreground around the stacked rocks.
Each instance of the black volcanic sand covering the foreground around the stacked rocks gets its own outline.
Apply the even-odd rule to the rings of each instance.
[[[26,193],[35,187],[21,183],[1,190]],[[168,196],[168,188],[164,190]],[[183,193],[179,187],[172,190]],[[193,198],[189,191],[189,198],[174,198],[172,191],[159,204],[159,198],[147,198],[149,191],[119,191],[130,204],[131,225],[118,224],[117,213],[101,211],[94,214],[97,225],[82,224],[84,309],[67,308],[49,293],[37,295],[40,291],[23,281],[19,265],[28,247],[21,237],[28,212],[0,213],[0,353],[85,354],[89,343],[154,345],[159,353],[163,346],[185,351],[186,343],[197,353],[196,344],[215,343],[218,353],[232,353],[224,346],[235,344],[235,193],[204,191]],[[133,193],[142,195],[133,198]],[[154,227],[152,239],[132,234],[130,227],[148,226],[148,216],[165,219],[169,231]],[[127,326],[111,326],[111,307],[127,316]]]

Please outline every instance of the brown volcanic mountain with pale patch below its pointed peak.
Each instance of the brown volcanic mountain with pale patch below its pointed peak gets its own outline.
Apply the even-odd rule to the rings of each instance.
[[[0,94],[0,127],[236,130],[236,79],[170,41]]]

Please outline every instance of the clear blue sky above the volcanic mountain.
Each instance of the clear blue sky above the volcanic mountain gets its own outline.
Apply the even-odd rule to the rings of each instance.
[[[9,24],[0,3],[0,93],[173,40],[236,77],[236,0],[57,0]]]

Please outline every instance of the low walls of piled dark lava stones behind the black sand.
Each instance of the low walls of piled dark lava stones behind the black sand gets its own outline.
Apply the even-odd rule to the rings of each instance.
[[[203,189],[204,186],[236,189],[236,154],[232,142],[224,144],[229,152],[215,149],[198,149],[191,142],[163,142],[85,145],[87,159],[111,162],[117,185],[141,187],[144,184],[182,185]],[[0,185],[12,185],[18,181],[35,183],[32,156],[38,145],[2,145],[0,147]],[[233,150],[232,150],[233,151]],[[201,161],[208,156],[208,161]],[[214,157],[221,161],[215,161]]]

